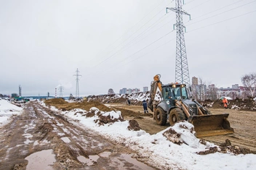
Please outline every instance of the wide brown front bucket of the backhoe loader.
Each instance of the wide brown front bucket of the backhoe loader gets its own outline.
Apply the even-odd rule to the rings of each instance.
[[[188,122],[193,124],[196,137],[207,137],[233,133],[228,122],[229,114],[207,114],[190,116]]]

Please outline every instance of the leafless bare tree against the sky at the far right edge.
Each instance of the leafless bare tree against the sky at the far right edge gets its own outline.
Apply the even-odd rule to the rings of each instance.
[[[244,77],[241,77],[241,82],[246,88],[246,94],[248,94],[250,97],[254,97],[256,90],[256,73],[244,75]]]

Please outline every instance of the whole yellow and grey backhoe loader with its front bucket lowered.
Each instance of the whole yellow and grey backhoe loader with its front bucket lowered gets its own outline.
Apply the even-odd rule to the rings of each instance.
[[[161,91],[161,101],[155,100],[156,91]],[[151,82],[151,99],[148,108],[154,113],[156,124],[164,126],[169,120],[173,125],[180,120],[193,124],[196,137],[225,135],[233,133],[228,122],[229,114],[212,114],[201,104],[188,96],[186,85],[170,83],[162,85],[160,75],[153,77]]]

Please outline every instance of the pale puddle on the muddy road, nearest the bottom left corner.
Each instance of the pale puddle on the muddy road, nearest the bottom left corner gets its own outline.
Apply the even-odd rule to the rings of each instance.
[[[28,165],[26,169],[38,169],[38,170],[53,170],[53,163],[56,161],[55,154],[52,154],[52,149],[41,150],[27,156],[25,158],[28,160]]]

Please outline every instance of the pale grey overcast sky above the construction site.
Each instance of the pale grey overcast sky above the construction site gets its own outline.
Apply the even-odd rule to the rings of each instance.
[[[0,93],[76,95],[175,82],[170,0],[0,0]],[[231,87],[255,72],[256,1],[185,0],[190,77]],[[59,95],[59,92],[57,93]]]

